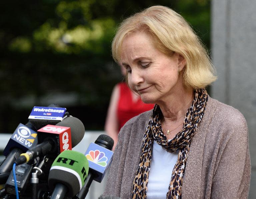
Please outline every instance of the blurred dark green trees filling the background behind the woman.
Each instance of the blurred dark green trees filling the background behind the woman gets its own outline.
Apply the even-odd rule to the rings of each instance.
[[[0,132],[25,123],[34,105],[59,103],[86,129],[103,129],[121,80],[111,58],[115,27],[152,5],[184,16],[210,48],[210,0],[0,2]]]

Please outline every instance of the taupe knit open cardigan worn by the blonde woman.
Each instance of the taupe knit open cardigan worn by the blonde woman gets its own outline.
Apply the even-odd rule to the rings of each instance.
[[[144,130],[151,112],[130,119],[121,129],[104,195],[131,198]],[[244,116],[237,109],[209,97],[190,144],[182,199],[248,198],[250,176]]]

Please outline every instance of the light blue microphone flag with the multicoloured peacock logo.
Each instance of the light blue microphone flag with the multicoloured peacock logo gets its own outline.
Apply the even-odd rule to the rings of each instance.
[[[89,162],[89,168],[98,175],[94,180],[101,182],[112,162],[113,151],[91,142],[85,156]]]

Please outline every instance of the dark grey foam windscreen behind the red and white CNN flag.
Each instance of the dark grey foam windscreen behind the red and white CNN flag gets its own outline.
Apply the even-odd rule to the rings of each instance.
[[[76,146],[84,137],[85,128],[80,119],[76,117],[67,117],[61,122],[56,124],[57,126],[66,126],[71,128],[71,142],[72,147]]]

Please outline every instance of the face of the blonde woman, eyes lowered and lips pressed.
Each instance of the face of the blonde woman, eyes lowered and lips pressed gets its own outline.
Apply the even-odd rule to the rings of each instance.
[[[178,69],[185,60],[175,53],[169,57],[158,50],[152,37],[144,32],[131,33],[122,44],[120,65],[128,72],[129,87],[145,103],[168,101],[180,88]]]

